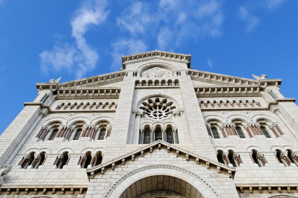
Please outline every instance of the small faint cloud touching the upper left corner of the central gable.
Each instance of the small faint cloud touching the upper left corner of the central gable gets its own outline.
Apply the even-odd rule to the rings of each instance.
[[[111,68],[114,70],[119,70],[122,67],[121,56],[136,54],[140,52],[147,51],[147,45],[144,44],[141,40],[130,39],[121,39],[112,44],[113,52]]]

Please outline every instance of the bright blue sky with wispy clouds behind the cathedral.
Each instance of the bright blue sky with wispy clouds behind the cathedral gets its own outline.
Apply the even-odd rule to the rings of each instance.
[[[118,71],[121,55],[192,55],[194,69],[282,78],[298,98],[298,1],[0,0],[0,134],[35,83]],[[296,102],[297,103],[297,102]]]

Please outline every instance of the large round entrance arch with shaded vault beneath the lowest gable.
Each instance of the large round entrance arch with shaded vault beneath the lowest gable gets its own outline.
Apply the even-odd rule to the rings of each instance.
[[[147,165],[128,172],[104,195],[104,198],[145,197],[219,198],[220,196],[207,181],[192,171],[165,164]]]

